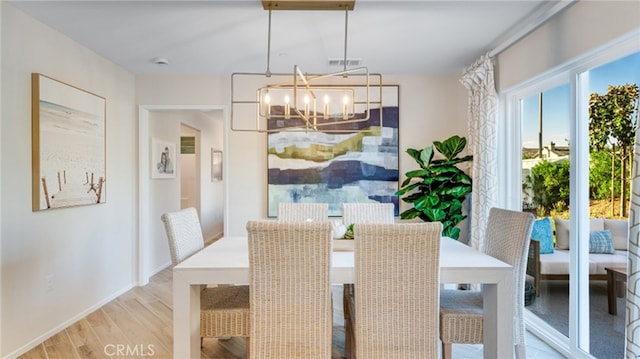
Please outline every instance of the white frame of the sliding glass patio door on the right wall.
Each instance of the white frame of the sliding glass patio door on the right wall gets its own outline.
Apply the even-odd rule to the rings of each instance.
[[[571,91],[571,247],[570,294],[569,294],[569,336],[565,337],[555,328],[535,314],[525,310],[527,330],[542,341],[573,358],[592,358],[589,350],[589,279],[579,268],[587,265],[588,250],[578,245],[580,233],[588,233],[588,203],[578,203],[577,198],[588,198],[588,107],[584,103],[587,72],[597,66],[615,61],[638,51],[637,41],[640,32],[632,32],[610,43],[585,53],[578,58],[548,70],[534,78],[506,89],[501,93],[501,117],[499,119],[499,138],[502,142],[502,155],[499,157],[499,183],[501,188],[509,188],[510,199],[503,199],[508,208],[521,208],[521,143],[518,100],[527,94],[552,88],[559,82],[568,82]],[[580,157],[577,157],[577,156]]]

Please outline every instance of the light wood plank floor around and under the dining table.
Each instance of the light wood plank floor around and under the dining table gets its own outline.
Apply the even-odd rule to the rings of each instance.
[[[20,358],[172,358],[173,286],[167,268],[153,276],[149,284],[135,287],[65,330],[39,344]],[[333,286],[332,359],[344,358],[342,286]],[[563,358],[545,343],[527,333],[527,356]],[[117,350],[120,348],[121,355]],[[130,352],[125,352],[126,349]],[[132,352],[136,351],[137,352]],[[454,344],[454,358],[480,358],[482,345]],[[201,358],[245,358],[243,338],[205,339]]]

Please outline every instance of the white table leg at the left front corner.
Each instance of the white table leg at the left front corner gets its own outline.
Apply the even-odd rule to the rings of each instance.
[[[200,357],[200,285],[173,272],[173,357]]]

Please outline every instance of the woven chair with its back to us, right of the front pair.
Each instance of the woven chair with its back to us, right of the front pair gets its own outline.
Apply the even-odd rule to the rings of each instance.
[[[442,224],[360,224],[355,291],[348,293],[354,343],[348,358],[438,357]]]

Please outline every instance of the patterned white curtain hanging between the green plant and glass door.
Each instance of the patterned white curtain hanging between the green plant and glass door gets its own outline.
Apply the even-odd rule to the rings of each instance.
[[[498,203],[497,110],[493,63],[488,55],[465,70],[460,82],[469,90],[468,142],[473,154],[469,245],[482,250],[489,209]]]

